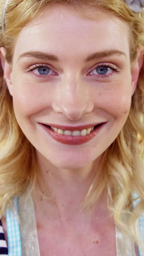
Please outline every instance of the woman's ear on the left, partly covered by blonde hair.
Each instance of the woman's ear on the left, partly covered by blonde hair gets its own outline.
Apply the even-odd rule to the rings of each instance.
[[[4,47],[0,48],[0,58],[1,58],[1,65],[4,72],[4,78],[8,86],[8,90],[11,96],[13,96],[13,84],[11,83],[11,71],[12,67],[11,64],[7,62],[5,59],[6,56],[6,49]]]

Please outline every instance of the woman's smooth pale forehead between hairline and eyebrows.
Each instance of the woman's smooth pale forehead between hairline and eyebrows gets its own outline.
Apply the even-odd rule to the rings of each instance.
[[[100,9],[86,7],[76,11],[52,5],[22,28],[14,55],[41,50],[63,59],[74,53],[82,57],[105,49],[118,49],[129,55],[129,28],[124,21]]]

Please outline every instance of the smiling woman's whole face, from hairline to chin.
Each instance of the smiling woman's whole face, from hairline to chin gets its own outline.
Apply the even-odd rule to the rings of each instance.
[[[130,67],[128,27],[104,11],[93,16],[62,5],[44,10],[22,29],[13,65],[5,65],[17,122],[39,157],[57,167],[96,160],[130,109],[138,71]]]

